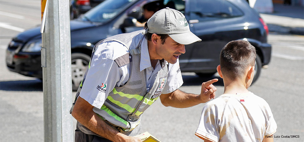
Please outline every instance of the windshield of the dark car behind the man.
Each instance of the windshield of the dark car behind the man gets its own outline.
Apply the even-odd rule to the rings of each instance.
[[[80,19],[89,22],[107,22],[136,0],[106,0],[83,14]]]

